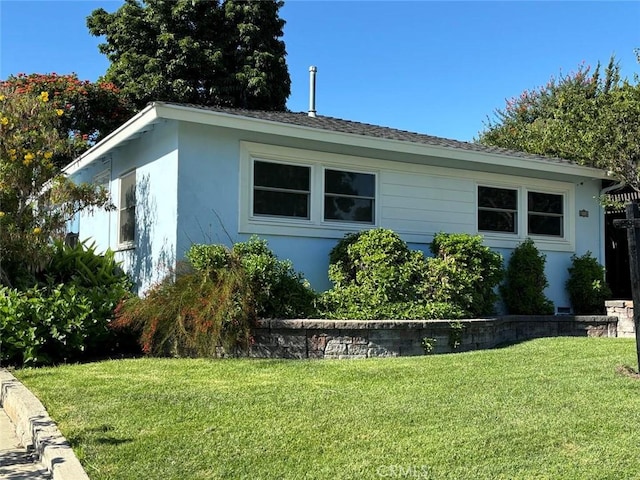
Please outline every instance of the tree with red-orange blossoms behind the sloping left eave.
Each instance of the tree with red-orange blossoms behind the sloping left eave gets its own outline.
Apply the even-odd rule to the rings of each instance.
[[[58,152],[54,159],[54,164],[59,168],[111,133],[133,114],[133,109],[125,103],[115,85],[79,80],[75,73],[21,73],[0,82],[0,88],[18,95],[47,92],[49,104],[62,111],[56,129],[65,144],[65,150]]]

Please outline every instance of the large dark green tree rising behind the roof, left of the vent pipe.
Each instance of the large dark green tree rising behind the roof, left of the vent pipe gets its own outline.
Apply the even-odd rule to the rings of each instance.
[[[92,35],[111,65],[104,77],[137,108],[154,100],[285,110],[283,2],[125,0],[94,10]]]

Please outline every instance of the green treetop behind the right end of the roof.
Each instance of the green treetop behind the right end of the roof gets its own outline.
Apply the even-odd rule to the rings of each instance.
[[[602,168],[640,188],[640,83],[621,79],[613,57],[604,72],[582,65],[507,100],[479,142]]]

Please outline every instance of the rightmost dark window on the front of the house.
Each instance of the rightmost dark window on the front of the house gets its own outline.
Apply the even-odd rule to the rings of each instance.
[[[564,235],[564,197],[552,193],[529,192],[527,223],[530,235]]]

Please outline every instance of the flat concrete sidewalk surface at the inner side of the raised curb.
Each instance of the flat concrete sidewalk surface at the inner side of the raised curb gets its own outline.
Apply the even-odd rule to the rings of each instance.
[[[0,409],[0,478],[50,480],[47,469],[20,445],[15,425]]]

